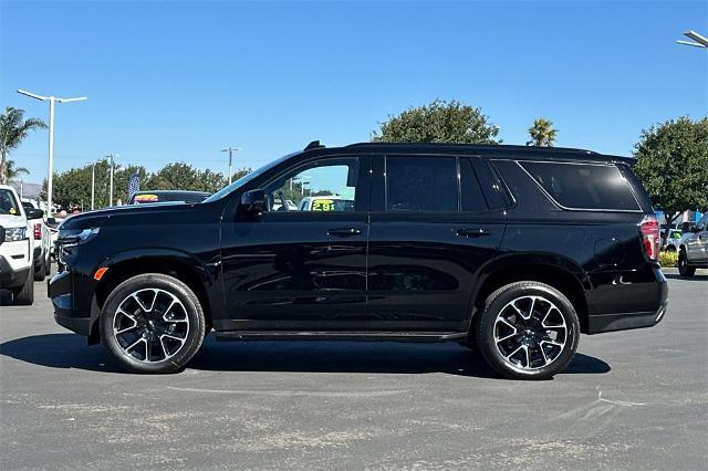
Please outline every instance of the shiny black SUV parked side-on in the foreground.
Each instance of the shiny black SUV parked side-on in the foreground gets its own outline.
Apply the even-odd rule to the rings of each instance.
[[[506,377],[549,378],[580,333],[666,312],[658,223],[631,165],[564,148],[315,142],[200,203],[67,219],[49,294],[59,324],[132,371],[184,367],[214,328],[458,342]]]

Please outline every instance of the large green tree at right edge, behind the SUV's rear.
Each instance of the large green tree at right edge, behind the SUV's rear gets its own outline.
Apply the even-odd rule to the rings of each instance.
[[[666,237],[675,214],[708,209],[708,117],[669,119],[642,132],[634,171],[664,211]]]

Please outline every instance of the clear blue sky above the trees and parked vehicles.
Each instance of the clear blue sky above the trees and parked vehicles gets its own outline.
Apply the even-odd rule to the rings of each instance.
[[[479,106],[507,144],[551,118],[558,145],[626,155],[657,122],[708,114],[708,2],[33,2],[0,0],[0,105],[48,119],[55,170],[106,153],[226,172],[311,139],[368,140],[435,98]],[[14,154],[46,174],[46,132]]]

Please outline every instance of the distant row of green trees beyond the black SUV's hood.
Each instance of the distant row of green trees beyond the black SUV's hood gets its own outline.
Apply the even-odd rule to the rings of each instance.
[[[72,168],[61,174],[54,174],[53,200],[63,208],[83,207],[91,209],[91,170],[92,166]],[[192,190],[215,192],[228,184],[228,178],[212,170],[199,170],[189,164],[177,163],[163,167],[155,174],[145,167],[128,165],[115,166],[113,175],[113,201],[125,203],[128,199],[128,180],[137,171],[140,177],[140,190]],[[243,168],[233,175],[238,179],[250,172]],[[95,208],[108,206],[110,164],[107,160],[96,163]],[[43,186],[43,197],[46,193],[46,180]]]

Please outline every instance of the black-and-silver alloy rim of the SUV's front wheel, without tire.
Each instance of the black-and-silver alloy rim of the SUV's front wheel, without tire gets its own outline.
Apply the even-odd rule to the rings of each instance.
[[[128,294],[113,320],[113,335],[124,354],[145,363],[175,356],[187,342],[189,327],[185,305],[160,289]]]

